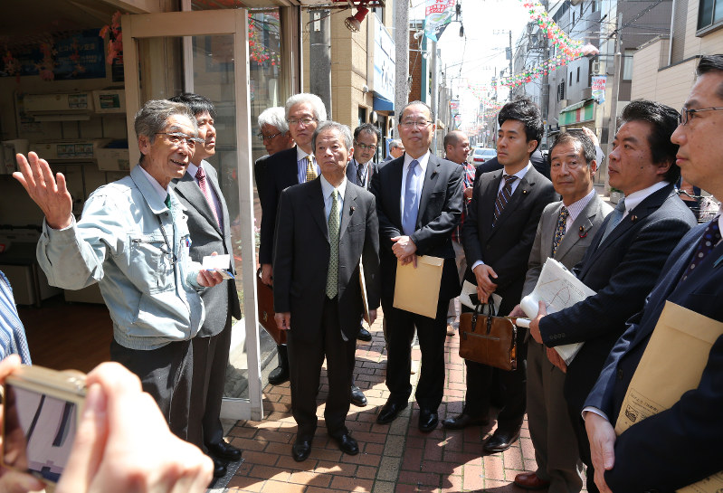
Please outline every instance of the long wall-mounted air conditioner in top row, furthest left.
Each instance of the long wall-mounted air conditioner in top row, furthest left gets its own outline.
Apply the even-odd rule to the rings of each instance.
[[[36,121],[87,120],[93,111],[93,96],[91,92],[25,94],[23,107]]]

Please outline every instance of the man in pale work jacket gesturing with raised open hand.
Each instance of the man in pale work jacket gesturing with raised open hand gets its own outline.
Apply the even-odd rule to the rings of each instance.
[[[30,153],[14,173],[45,214],[37,257],[53,286],[98,282],[113,320],[110,358],[138,375],[171,431],[188,440],[191,340],[205,318],[198,291],[223,279],[191,261],[183,205],[169,188],[198,142],[184,104],[147,101],[135,120],[141,157],[130,175],[90,195],[80,221],[65,177]]]

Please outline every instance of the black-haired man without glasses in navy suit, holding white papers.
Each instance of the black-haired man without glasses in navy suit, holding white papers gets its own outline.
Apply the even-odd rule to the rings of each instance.
[[[637,313],[668,254],[695,224],[673,184],[680,168],[671,134],[678,112],[647,100],[623,109],[623,124],[608,156],[610,185],[625,198],[605,218],[577,270],[577,277],[597,294],[573,307],[545,316],[543,307],[530,324],[538,343],[554,347],[585,342],[567,368],[565,397],[587,464],[587,489],[595,491],[593,464],[580,419],[587,393],[603,369],[605,358],[625,320]]]

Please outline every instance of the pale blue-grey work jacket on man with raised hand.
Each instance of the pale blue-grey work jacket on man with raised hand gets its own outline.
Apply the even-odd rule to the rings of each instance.
[[[52,286],[98,282],[113,337],[129,349],[188,340],[205,318],[196,283],[201,265],[190,259],[184,206],[170,192],[169,211],[154,182],[135,166],[90,194],[78,223],[73,218],[68,228],[53,230],[43,221],[37,247]]]

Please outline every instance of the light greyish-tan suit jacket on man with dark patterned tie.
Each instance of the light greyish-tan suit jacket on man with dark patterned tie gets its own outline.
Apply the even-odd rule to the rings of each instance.
[[[542,266],[550,257],[552,242],[555,240],[555,232],[557,231],[557,218],[560,215],[562,206],[562,202],[554,202],[547,204],[545,210],[542,211],[537,224],[535,242],[532,244],[532,251],[529,253],[528,273],[525,277],[525,286],[522,288],[523,298],[535,289]],[[553,259],[562,263],[567,269],[572,270],[583,259],[585,251],[593,241],[595,232],[600,229],[600,224],[603,223],[607,214],[611,212],[613,212],[613,208],[595,194],[566,231],[562,242],[557,245],[557,251]]]

